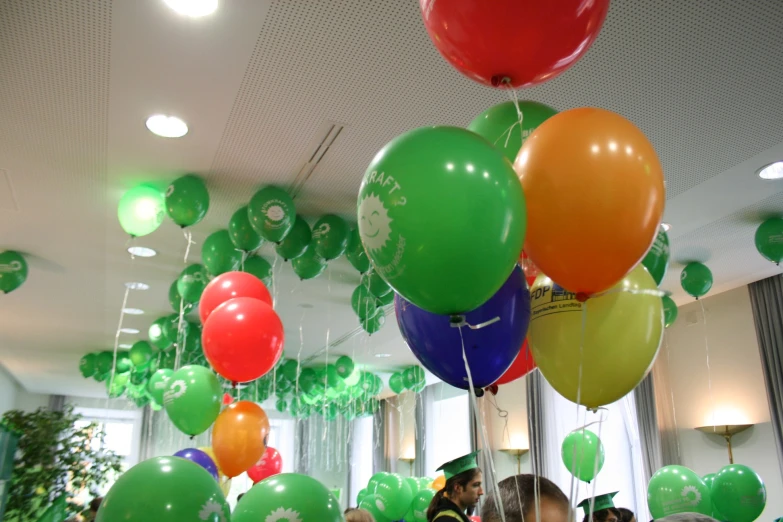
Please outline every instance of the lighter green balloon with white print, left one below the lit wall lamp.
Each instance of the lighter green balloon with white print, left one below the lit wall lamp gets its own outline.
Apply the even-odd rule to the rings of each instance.
[[[712,514],[709,488],[685,466],[664,466],[655,472],[647,485],[647,505],[656,519],[677,513]]]

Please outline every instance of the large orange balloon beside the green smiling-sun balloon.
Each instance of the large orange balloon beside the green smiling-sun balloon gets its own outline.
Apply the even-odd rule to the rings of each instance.
[[[663,170],[644,133],[618,114],[552,116],[525,141],[514,170],[527,203],[525,253],[566,290],[611,288],[655,240]]]

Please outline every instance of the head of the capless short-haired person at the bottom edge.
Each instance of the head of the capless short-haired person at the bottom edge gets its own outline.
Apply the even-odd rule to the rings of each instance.
[[[551,480],[516,475],[498,483],[500,503],[507,522],[569,522],[568,497]],[[538,509],[536,509],[538,498]],[[501,522],[500,507],[490,491],[481,508],[482,522]]]

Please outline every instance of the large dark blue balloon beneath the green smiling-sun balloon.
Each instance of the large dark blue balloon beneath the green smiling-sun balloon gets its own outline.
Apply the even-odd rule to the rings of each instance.
[[[489,386],[514,362],[530,324],[530,292],[519,266],[489,301],[465,314],[473,330],[452,326],[452,316],[437,315],[418,308],[399,295],[394,297],[397,324],[413,355],[442,381],[467,390],[468,374],[462,360],[462,339],[475,388]]]

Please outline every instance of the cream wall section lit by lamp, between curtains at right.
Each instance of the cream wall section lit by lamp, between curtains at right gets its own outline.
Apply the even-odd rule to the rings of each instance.
[[[693,428],[755,424],[734,437],[734,461],[756,470],[766,483],[767,507],[759,520],[781,516],[783,481],[747,287],[680,307],[660,356],[669,359],[683,465],[706,475],[728,464],[723,439]]]

